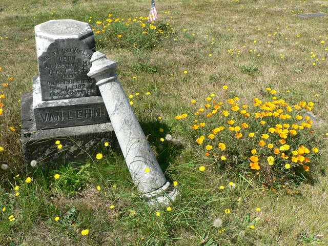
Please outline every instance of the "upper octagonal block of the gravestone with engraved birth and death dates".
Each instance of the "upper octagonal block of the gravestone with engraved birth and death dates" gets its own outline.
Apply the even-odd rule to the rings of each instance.
[[[95,51],[89,24],[72,19],[35,26],[40,89],[43,100],[96,96],[87,76]]]

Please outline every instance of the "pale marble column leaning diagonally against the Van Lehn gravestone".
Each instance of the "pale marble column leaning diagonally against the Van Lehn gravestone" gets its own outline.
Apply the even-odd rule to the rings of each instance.
[[[170,186],[142,131],[116,74],[117,62],[95,52],[88,76],[96,80],[113,125],[119,146],[127,162],[132,180],[149,203],[168,204],[177,195]]]

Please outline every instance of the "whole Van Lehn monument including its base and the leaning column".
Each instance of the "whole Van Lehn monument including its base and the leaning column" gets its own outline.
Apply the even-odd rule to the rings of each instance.
[[[35,39],[39,76],[33,77],[33,94],[22,96],[26,161],[83,159],[99,141],[116,147],[118,141],[140,196],[150,204],[174,200],[177,191],[162,173],[119,83],[117,63],[95,52],[90,26],[51,20],[35,27]],[[58,138],[63,151],[55,145]]]

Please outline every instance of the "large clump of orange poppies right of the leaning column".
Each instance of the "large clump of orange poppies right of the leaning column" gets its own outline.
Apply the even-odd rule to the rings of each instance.
[[[277,93],[270,88],[267,91],[272,95]],[[292,107],[276,96],[273,101],[265,103],[255,98],[253,109],[256,112],[252,112],[248,105],[238,104],[238,97],[230,98],[228,104],[223,104],[213,99],[214,96],[211,94],[211,97],[206,98],[206,104],[195,113],[192,126],[193,131],[202,134],[196,142],[204,146],[207,156],[229,155],[230,147],[244,145],[244,148],[239,147],[243,156],[248,155],[248,149],[252,150],[249,159],[251,169],[260,170],[262,165],[282,165],[286,171],[301,166],[306,172],[310,170],[308,163],[311,159],[308,154],[318,153],[319,149],[314,147],[310,151],[305,146],[306,141],[298,141],[298,138],[313,133],[313,121],[302,114],[311,111],[314,103],[301,101]],[[192,100],[192,104],[195,103],[196,100]],[[181,118],[187,118],[187,114],[176,116],[178,120]],[[207,134],[209,130],[211,133]]]

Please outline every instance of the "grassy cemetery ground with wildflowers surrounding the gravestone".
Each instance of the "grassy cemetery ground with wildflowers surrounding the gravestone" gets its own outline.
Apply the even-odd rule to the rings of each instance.
[[[2,3],[0,245],[327,244],[327,17],[298,16],[326,4],[163,0],[149,24],[150,1]],[[50,19],[89,23],[118,61],[170,207],[139,198],[106,142],[79,167],[26,168],[20,96]]]

